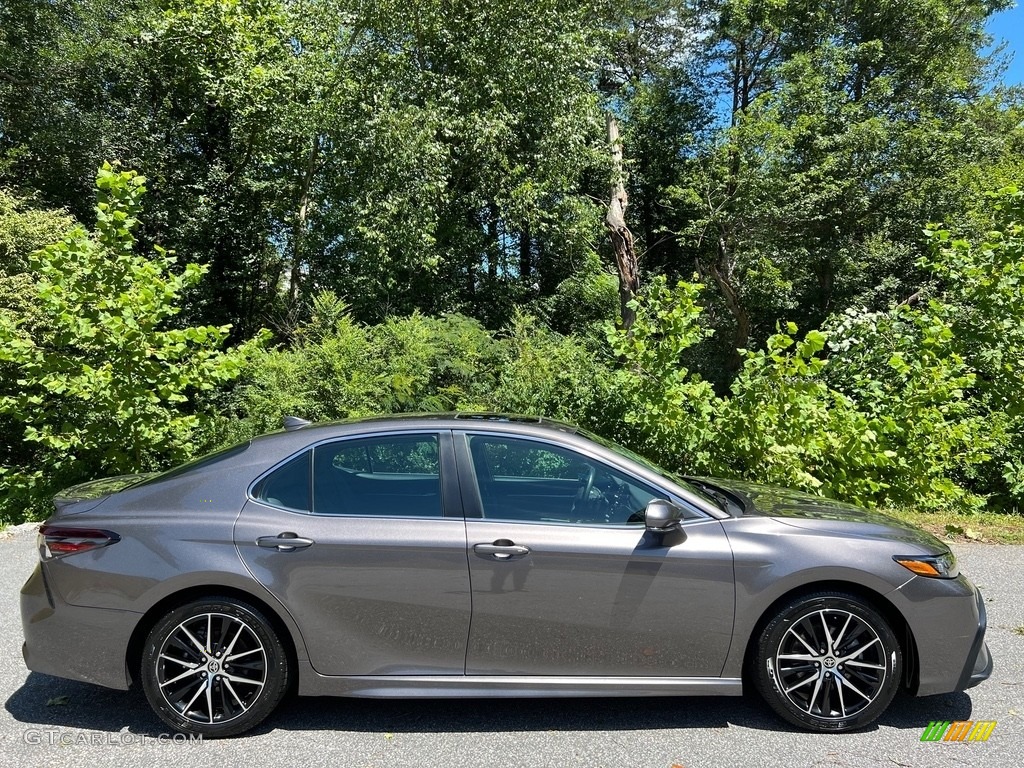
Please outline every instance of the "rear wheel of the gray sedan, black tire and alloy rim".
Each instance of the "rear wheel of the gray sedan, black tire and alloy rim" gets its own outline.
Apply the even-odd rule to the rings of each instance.
[[[266,718],[288,689],[288,653],[255,607],[212,597],[157,622],[142,650],[142,689],[182,733],[233,736]]]

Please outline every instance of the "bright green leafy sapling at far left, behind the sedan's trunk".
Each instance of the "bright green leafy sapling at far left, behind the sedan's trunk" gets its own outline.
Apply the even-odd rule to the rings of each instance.
[[[41,498],[65,483],[184,458],[198,421],[189,393],[241,370],[237,354],[220,351],[226,327],[168,327],[204,269],[174,273],[160,248],[150,258],[133,253],[143,181],[104,165],[94,231],[75,227],[32,257],[44,324],[0,313],[0,361],[18,376],[17,389],[0,395],[0,414],[22,424],[30,456],[0,470],[5,519],[40,512]]]

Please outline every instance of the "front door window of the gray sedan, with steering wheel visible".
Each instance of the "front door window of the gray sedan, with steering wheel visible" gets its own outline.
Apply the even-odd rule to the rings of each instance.
[[[485,519],[643,524],[654,488],[583,454],[535,440],[470,435]]]

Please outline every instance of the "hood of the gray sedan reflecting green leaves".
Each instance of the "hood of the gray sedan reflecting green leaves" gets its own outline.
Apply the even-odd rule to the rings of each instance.
[[[693,481],[697,485],[708,483],[718,486],[738,497],[743,503],[744,516],[772,517],[794,527],[836,530],[844,536],[894,539],[918,544],[931,551],[949,549],[939,539],[921,528],[883,512],[846,502],[744,480],[698,477],[693,478]]]

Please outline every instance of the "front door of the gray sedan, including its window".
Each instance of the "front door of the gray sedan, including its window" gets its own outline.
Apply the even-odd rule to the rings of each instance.
[[[668,495],[620,468],[545,440],[456,439],[479,515],[466,520],[467,674],[721,674],[734,588],[720,522],[650,534],[642,511]]]

